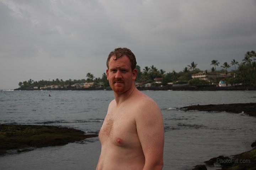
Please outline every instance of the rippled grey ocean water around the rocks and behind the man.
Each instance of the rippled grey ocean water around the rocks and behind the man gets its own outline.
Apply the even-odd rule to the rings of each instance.
[[[243,113],[183,111],[187,105],[256,102],[256,91],[143,91],[158,103],[165,126],[163,170],[191,170],[219,155],[250,150],[256,117]],[[48,97],[48,95],[52,97]],[[112,91],[0,91],[0,123],[73,127],[98,133]],[[93,170],[98,138],[0,157],[2,170]],[[209,170],[218,169],[210,168]]]

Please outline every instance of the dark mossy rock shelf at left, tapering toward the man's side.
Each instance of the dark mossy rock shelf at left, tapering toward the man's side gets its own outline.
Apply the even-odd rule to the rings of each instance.
[[[97,136],[67,127],[0,124],[0,155],[12,149],[25,152],[33,150],[31,148],[62,146]]]

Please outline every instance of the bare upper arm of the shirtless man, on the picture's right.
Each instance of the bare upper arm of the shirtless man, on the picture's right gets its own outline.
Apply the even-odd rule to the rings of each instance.
[[[137,133],[145,156],[143,170],[161,170],[163,166],[164,125],[158,105],[146,99],[135,117]]]

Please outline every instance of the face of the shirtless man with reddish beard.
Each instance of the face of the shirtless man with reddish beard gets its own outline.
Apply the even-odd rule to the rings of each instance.
[[[132,71],[129,58],[124,55],[117,60],[116,56],[112,56],[108,62],[107,79],[110,87],[116,93],[127,92],[134,84],[137,70]]]

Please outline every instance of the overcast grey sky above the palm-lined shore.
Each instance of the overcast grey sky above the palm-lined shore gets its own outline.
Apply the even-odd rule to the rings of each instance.
[[[0,89],[101,77],[110,51],[138,65],[210,70],[256,50],[255,0],[0,0]]]

